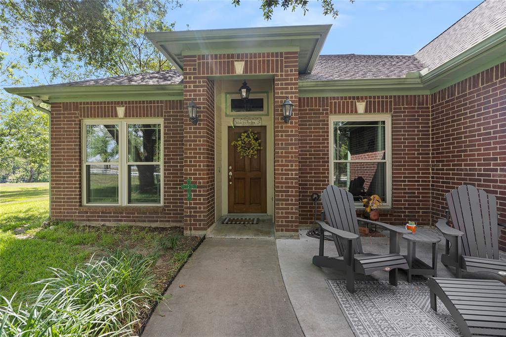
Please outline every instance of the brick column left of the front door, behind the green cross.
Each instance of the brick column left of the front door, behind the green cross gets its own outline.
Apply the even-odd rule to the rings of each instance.
[[[184,179],[197,185],[193,199],[184,201],[184,228],[185,234],[205,234],[215,219],[215,83],[198,74],[196,56],[185,56],[183,83],[183,108],[192,99],[198,106],[197,125],[184,122]]]

